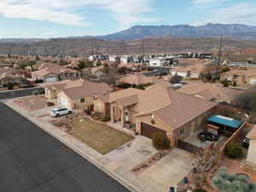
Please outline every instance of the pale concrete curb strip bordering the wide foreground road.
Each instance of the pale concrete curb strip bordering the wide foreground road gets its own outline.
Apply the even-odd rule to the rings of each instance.
[[[9,101],[9,102],[13,102],[13,101]],[[131,190],[131,192],[138,192],[138,191],[142,191],[142,190],[138,190],[137,187],[135,187],[134,185],[132,185],[131,183],[127,182],[125,179],[123,179],[122,177],[119,177],[117,174],[113,173],[113,172],[109,172],[104,166],[101,165],[101,163],[90,157],[87,154],[82,153],[78,148],[74,147],[73,144],[71,143],[67,143],[67,141],[65,139],[63,139],[62,137],[58,136],[57,134],[55,134],[52,131],[49,131],[47,129],[44,128],[44,126],[41,125],[40,122],[38,122],[38,120],[32,119],[32,117],[30,117],[29,115],[27,115],[26,113],[21,113],[20,109],[18,108],[14,108],[9,102],[3,102],[5,105],[7,105],[9,108],[12,108],[13,110],[15,110],[15,112],[20,113],[21,116],[25,117],[26,119],[28,119],[29,121],[31,121],[33,124],[38,125],[39,128],[41,128],[43,131],[46,131],[47,133],[49,133],[50,136],[55,137],[57,140],[59,140],[61,143],[65,144],[68,148],[73,149],[73,151],[75,151],[77,154],[81,155],[82,157],[84,157],[84,159],[88,160],[91,164],[95,165],[97,168],[99,168],[100,170],[102,170],[102,172],[105,172],[106,174],[108,174],[109,177],[112,177],[113,179],[115,179],[116,181],[118,181],[119,183],[121,183],[122,185],[125,186],[126,189]],[[52,125],[54,126],[54,125]],[[61,131],[61,133],[66,133]],[[66,133],[67,134],[67,133]],[[68,135],[69,136],[69,135]],[[79,141],[79,140],[78,140]],[[80,141],[79,141],[80,142]],[[83,143],[84,144],[84,143]]]

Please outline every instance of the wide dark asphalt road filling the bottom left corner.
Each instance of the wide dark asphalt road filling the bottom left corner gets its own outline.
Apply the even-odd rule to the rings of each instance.
[[[0,192],[128,192],[0,102]]]

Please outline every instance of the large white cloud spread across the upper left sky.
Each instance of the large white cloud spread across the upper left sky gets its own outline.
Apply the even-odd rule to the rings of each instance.
[[[8,18],[44,20],[63,25],[90,26],[90,18],[78,14],[86,8],[107,9],[121,26],[154,21],[144,15],[152,11],[153,0],[1,0],[0,15]]]

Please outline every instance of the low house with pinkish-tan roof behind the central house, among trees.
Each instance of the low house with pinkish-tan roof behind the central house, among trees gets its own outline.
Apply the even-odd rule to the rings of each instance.
[[[147,77],[143,74],[131,74],[119,79],[120,83],[126,84],[155,84],[159,81],[156,77]]]

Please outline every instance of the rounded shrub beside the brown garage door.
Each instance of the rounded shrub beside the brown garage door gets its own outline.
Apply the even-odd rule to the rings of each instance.
[[[152,143],[157,150],[165,150],[170,148],[171,141],[166,133],[155,132],[152,136]]]

